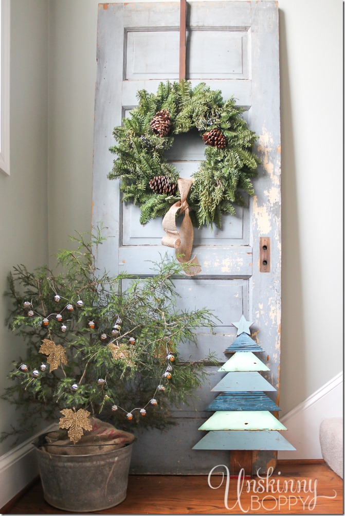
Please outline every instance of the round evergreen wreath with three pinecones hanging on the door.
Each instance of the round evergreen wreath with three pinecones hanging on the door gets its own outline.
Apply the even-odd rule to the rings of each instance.
[[[160,83],[158,92],[137,92],[138,107],[123,118],[113,135],[116,154],[108,179],[121,179],[124,202],[138,204],[140,222],[166,214],[180,199],[179,172],[164,152],[174,136],[196,128],[205,141],[205,159],[193,175],[187,202],[193,224],[221,227],[222,214],[234,215],[234,205],[246,205],[243,192],[254,194],[251,178],[259,158],[252,152],[257,139],[241,117],[244,109],[205,83],[192,88],[186,80]]]

